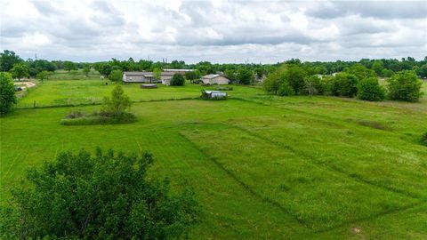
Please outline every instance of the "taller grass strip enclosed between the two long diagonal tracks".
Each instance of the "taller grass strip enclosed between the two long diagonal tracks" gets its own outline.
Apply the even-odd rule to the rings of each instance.
[[[195,128],[182,134],[248,188],[280,204],[314,230],[418,203],[413,198],[326,171],[238,129],[224,125]]]

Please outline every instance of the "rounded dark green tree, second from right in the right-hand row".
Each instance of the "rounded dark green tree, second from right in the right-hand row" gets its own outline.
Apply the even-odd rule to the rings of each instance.
[[[385,97],[383,87],[378,83],[376,77],[363,79],[358,84],[359,100],[383,100]]]

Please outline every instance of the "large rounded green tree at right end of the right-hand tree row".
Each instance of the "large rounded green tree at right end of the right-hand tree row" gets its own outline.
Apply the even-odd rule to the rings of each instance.
[[[389,98],[391,100],[405,100],[415,102],[423,95],[423,84],[414,71],[400,71],[387,80]]]

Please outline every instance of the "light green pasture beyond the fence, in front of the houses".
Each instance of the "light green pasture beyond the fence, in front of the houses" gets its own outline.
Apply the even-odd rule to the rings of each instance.
[[[52,78],[54,79],[54,78]],[[106,85],[105,83],[109,83]],[[133,101],[148,100],[178,100],[184,98],[198,98],[202,89],[214,89],[198,84],[186,86],[165,86],[157,84],[155,89],[141,89],[141,84],[123,84],[125,93]],[[17,108],[33,108],[47,106],[69,106],[81,104],[100,104],[104,96],[108,96],[115,84],[106,80],[48,80],[37,91],[29,92],[28,96],[20,100]],[[230,96],[248,97],[262,94],[261,89],[234,86]]]

